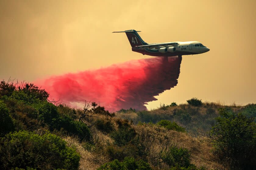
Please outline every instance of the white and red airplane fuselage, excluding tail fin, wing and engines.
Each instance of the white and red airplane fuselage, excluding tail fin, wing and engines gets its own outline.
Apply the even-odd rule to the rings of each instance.
[[[206,53],[210,50],[207,47],[201,45],[201,42],[197,42],[197,41],[176,42],[176,44],[172,46],[175,47],[175,50],[173,52],[167,51],[167,52],[161,53],[159,52],[159,48],[144,48],[144,47],[132,47],[132,51],[137,53],[142,53],[143,55],[149,55],[149,56],[169,57],[169,56],[201,54],[201,53]],[[168,48],[170,46],[162,45],[161,47]]]

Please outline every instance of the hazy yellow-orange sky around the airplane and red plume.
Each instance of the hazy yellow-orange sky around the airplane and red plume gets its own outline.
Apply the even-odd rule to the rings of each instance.
[[[148,43],[199,41],[210,51],[183,56],[178,85],[149,109],[191,97],[256,102],[255,1],[0,1],[0,78],[34,81],[132,59],[125,34]]]

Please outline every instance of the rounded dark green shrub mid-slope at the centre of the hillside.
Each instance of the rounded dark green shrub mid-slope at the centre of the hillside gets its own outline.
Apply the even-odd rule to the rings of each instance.
[[[110,137],[115,140],[115,144],[118,146],[123,146],[128,144],[130,141],[134,139],[136,136],[136,132],[131,127],[122,127],[117,131],[113,131],[110,134]]]

